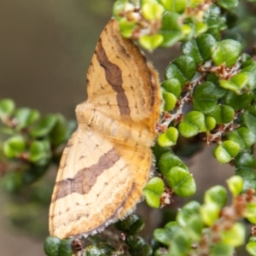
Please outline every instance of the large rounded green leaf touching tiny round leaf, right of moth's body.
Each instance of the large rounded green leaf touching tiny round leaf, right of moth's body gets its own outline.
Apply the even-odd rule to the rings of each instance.
[[[183,137],[193,137],[199,132],[207,131],[204,114],[198,111],[190,111],[178,125],[178,130]]]

